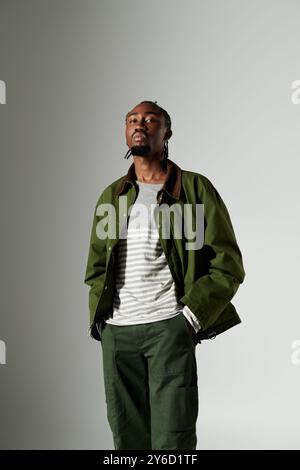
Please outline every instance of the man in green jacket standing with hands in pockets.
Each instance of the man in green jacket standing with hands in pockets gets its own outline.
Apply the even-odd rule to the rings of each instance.
[[[241,322],[242,255],[210,180],[168,158],[169,114],[142,101],[125,121],[133,163],[97,201],[85,273],[107,418],[115,449],[196,449],[195,348]]]

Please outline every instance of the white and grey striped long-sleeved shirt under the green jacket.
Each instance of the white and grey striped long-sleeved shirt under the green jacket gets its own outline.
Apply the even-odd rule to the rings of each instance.
[[[195,315],[178,301],[176,285],[162,249],[153,217],[163,183],[142,183],[116,247],[113,325],[135,325],[183,313],[200,329]]]

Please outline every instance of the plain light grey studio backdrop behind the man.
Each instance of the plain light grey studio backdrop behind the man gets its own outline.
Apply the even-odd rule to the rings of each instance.
[[[0,1],[0,445],[112,449],[83,284],[92,213],[157,100],[231,215],[243,323],[197,347],[199,449],[300,448],[300,2]]]

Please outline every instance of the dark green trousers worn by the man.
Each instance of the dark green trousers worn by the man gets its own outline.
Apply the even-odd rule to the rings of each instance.
[[[102,321],[100,329],[115,449],[196,449],[196,344],[183,313],[141,325]]]

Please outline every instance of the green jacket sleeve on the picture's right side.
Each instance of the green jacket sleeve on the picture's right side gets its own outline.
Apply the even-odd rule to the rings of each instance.
[[[203,175],[198,191],[204,204],[204,242],[200,250],[212,255],[206,272],[191,284],[180,301],[189,307],[206,330],[235,295],[245,278],[245,271],[230,216],[220,194]]]

